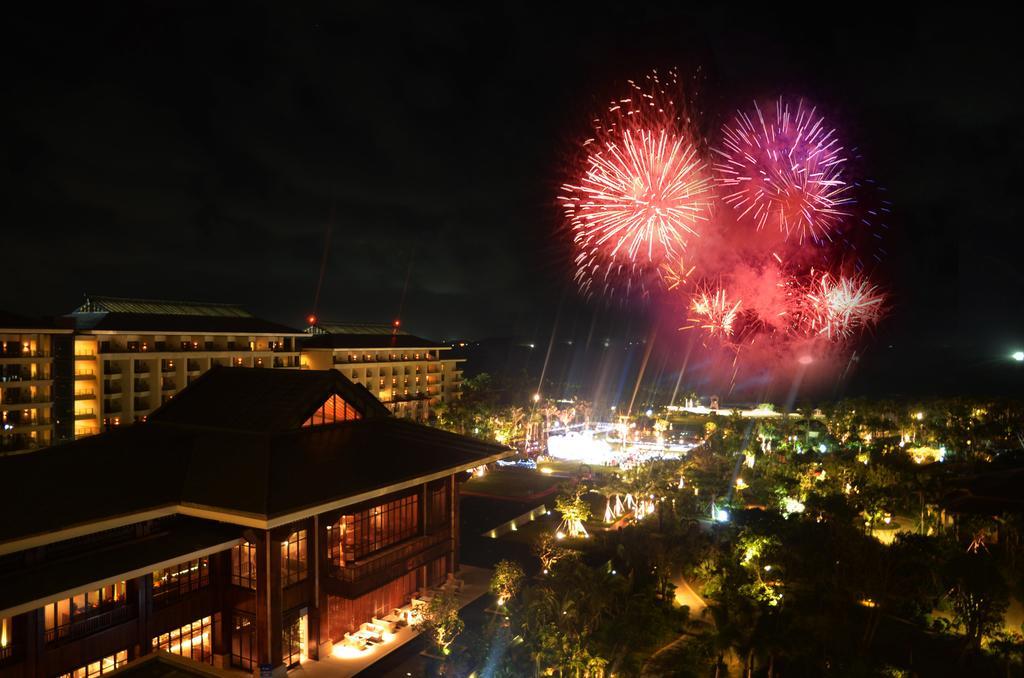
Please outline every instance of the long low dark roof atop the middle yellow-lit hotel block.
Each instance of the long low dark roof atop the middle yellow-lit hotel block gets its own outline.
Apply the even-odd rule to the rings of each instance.
[[[71,314],[80,330],[117,332],[168,332],[178,334],[301,335],[286,327],[251,315],[183,315],[178,313],[82,312]]]

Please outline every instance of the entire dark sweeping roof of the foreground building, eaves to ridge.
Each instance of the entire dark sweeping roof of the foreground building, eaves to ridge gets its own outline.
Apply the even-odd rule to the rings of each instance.
[[[335,371],[212,370],[147,423],[0,457],[0,515],[17,516],[0,520],[0,543],[178,505],[271,519],[512,454],[379,411],[288,430],[307,416],[313,394],[326,397],[338,380]],[[265,390],[274,383],[276,392]],[[252,397],[229,395],[249,387]],[[232,401],[219,405],[217,396]],[[243,414],[250,406],[270,423]]]

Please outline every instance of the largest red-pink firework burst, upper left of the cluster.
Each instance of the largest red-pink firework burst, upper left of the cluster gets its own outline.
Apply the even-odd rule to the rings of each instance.
[[[650,91],[633,84],[633,96],[612,102],[595,122],[577,178],[562,186],[575,278],[587,292],[645,290],[709,219],[713,184],[685,107],[656,77],[650,82]]]

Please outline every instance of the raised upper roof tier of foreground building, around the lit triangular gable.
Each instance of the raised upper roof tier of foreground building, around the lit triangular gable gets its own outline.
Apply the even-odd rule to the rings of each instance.
[[[150,419],[252,433],[299,428],[332,393],[365,417],[390,413],[365,386],[337,370],[215,367],[168,400]]]

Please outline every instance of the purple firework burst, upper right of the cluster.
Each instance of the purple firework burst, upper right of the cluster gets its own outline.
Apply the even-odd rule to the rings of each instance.
[[[782,98],[766,111],[755,103],[754,115],[737,112],[722,137],[714,171],[723,202],[759,229],[820,243],[850,216],[844,150],[814,108],[801,100],[793,111]]]

